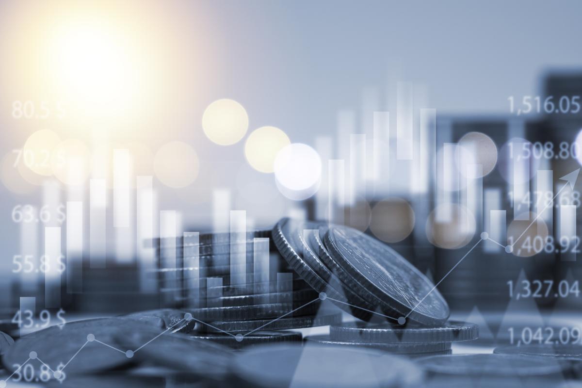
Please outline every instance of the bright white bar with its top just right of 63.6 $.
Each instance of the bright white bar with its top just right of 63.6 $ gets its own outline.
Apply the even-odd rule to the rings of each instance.
[[[67,201],[67,293],[83,292],[83,202]]]

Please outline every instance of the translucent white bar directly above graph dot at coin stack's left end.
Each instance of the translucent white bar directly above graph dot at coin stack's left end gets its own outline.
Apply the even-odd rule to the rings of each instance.
[[[198,308],[200,305],[200,232],[184,232],[184,288],[186,306]]]

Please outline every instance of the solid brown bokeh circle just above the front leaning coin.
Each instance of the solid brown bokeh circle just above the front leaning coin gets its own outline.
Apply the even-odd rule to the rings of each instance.
[[[414,229],[414,210],[402,198],[379,201],[372,208],[370,230],[386,243],[397,243]]]

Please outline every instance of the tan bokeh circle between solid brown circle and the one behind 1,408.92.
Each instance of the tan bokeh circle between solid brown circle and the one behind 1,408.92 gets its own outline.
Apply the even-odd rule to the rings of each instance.
[[[428,241],[439,248],[462,248],[473,239],[475,217],[462,205],[440,204],[428,216],[426,232]]]

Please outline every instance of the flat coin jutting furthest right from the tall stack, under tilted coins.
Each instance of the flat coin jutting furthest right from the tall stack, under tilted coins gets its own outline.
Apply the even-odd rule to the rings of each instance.
[[[318,313],[317,316],[285,316],[279,319],[250,319],[248,321],[216,321],[211,326],[201,325],[200,331],[217,333],[221,330],[230,333],[244,333],[256,329],[283,330],[314,328],[315,326],[327,326],[342,322],[341,313]]]

